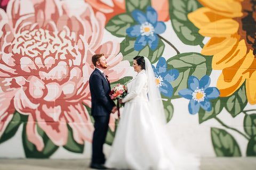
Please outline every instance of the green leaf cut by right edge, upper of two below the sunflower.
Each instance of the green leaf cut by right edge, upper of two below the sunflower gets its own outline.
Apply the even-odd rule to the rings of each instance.
[[[250,136],[256,136],[256,114],[244,116],[244,131]]]

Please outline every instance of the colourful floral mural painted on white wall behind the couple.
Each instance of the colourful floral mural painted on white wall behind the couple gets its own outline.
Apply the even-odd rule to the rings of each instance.
[[[134,56],[148,57],[177,147],[256,156],[255,1],[0,5],[0,157],[90,157],[95,53],[107,57],[112,87],[135,75]],[[111,114],[106,148],[116,128]]]

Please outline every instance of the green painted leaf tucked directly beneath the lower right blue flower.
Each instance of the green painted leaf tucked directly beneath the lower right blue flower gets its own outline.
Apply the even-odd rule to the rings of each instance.
[[[212,110],[210,112],[207,112],[202,108],[199,109],[198,117],[200,124],[211,118],[216,117],[223,109],[223,104],[221,104],[220,98],[215,98],[210,101],[212,104]]]

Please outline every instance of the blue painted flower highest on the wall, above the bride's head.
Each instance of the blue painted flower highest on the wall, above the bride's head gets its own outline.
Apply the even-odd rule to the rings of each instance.
[[[163,33],[166,29],[164,22],[157,21],[156,10],[148,6],[146,14],[139,10],[134,10],[132,16],[139,24],[133,25],[126,30],[130,37],[138,37],[134,44],[134,49],[139,51],[148,43],[152,50],[158,46],[157,34]]]

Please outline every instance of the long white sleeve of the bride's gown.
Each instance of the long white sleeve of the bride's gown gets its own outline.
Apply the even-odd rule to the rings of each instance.
[[[129,92],[129,94],[127,94],[122,99],[123,103],[135,98],[140,93],[140,91],[142,90],[142,88],[145,86],[146,83],[147,83],[147,78],[145,74],[137,75],[137,78],[135,79],[135,85],[134,85],[135,87],[132,87],[131,92]]]

